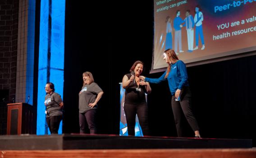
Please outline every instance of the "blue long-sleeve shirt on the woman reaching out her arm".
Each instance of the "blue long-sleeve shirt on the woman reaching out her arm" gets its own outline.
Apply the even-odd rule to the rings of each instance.
[[[165,79],[166,71],[158,79],[145,78],[146,82],[160,83]],[[171,65],[171,71],[167,77],[169,89],[172,95],[175,94],[177,89],[182,89],[184,86],[188,86],[187,82],[187,68],[183,61],[178,60],[176,63]]]

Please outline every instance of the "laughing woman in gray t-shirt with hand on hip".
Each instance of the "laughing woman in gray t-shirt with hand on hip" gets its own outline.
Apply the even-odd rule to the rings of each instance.
[[[96,134],[97,102],[100,101],[103,91],[98,84],[94,82],[91,72],[84,72],[82,79],[82,90],[79,92],[80,133],[86,133],[86,129],[89,128],[90,134]]]

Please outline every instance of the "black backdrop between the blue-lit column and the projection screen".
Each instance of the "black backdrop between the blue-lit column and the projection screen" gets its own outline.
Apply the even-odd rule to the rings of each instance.
[[[83,72],[90,71],[104,91],[98,103],[100,132],[119,134],[119,82],[136,60],[145,61],[147,72],[150,69],[151,4],[147,4],[148,10],[141,10],[139,6],[121,3],[120,7],[114,4],[112,7],[111,4],[77,5],[72,0],[66,1],[64,132],[79,132],[78,93]],[[96,12],[100,16],[96,16]]]

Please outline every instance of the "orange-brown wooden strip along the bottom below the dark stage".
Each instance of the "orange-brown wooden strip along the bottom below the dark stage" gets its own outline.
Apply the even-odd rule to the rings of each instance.
[[[5,150],[1,158],[256,158],[256,149]]]

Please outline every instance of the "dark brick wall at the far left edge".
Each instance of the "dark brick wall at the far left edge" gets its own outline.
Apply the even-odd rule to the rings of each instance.
[[[15,101],[18,0],[0,0],[0,135],[7,130],[7,103]]]

